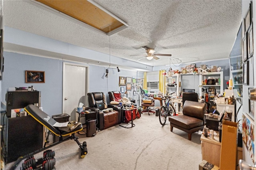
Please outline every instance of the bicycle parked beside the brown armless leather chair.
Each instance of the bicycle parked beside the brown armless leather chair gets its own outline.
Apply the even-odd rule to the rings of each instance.
[[[160,108],[159,121],[161,125],[165,125],[167,117],[176,115],[176,111],[172,103],[170,102],[170,99],[171,99],[170,95],[172,95],[173,93],[175,92],[172,92],[162,97],[162,100],[164,100],[165,105],[161,106]]]

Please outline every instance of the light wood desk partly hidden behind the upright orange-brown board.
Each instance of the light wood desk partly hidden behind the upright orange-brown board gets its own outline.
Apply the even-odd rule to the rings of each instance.
[[[220,167],[220,148],[221,142],[219,142],[219,137],[215,135],[214,139],[210,137],[204,137],[204,134],[201,135],[201,148],[202,148],[202,160],[208,161],[210,164],[214,164]],[[243,150],[241,147],[237,148],[237,158],[236,164],[238,164],[239,159],[243,158]]]

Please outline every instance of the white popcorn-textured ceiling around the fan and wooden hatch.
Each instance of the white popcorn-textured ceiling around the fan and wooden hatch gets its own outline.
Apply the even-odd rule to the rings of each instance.
[[[109,37],[34,2],[20,0],[4,1],[4,25],[106,54],[110,46],[113,56],[158,66],[169,64],[170,58],[178,58],[182,63],[228,58],[242,22],[241,0],[95,2],[129,27]],[[146,55],[141,48],[144,45],[154,48],[156,53],[172,54],[172,57],[137,61]]]

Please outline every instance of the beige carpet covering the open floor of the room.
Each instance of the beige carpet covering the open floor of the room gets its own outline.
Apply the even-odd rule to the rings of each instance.
[[[143,114],[133,128],[119,125],[98,132],[94,137],[78,135],[87,142],[88,154],[80,158],[79,147],[68,140],[51,149],[56,152],[57,170],[198,170],[202,161],[200,135],[187,133],[170,124],[162,127],[158,117]],[[122,123],[126,125],[126,123]],[[36,159],[42,153],[34,155]],[[6,165],[10,167],[12,163]],[[19,167],[17,169],[20,169]]]

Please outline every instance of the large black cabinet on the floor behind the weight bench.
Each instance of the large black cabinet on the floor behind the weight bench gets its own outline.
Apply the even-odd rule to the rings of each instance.
[[[6,163],[42,148],[43,126],[31,116],[8,118],[5,124],[1,154]]]

